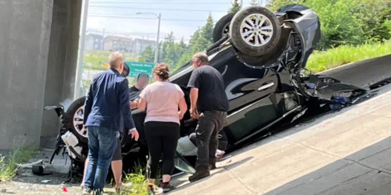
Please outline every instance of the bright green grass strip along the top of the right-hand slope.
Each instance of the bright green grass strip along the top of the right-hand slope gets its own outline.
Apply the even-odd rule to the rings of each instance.
[[[327,51],[314,51],[307,61],[306,68],[318,73],[350,62],[388,54],[391,54],[391,40],[359,46],[344,45]]]

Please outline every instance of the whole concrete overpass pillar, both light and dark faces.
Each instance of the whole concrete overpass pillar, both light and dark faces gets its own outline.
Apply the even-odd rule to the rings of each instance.
[[[73,97],[81,1],[0,0],[0,149],[57,133],[43,107]]]

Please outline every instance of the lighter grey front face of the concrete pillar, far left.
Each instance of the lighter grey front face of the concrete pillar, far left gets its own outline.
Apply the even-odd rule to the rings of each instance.
[[[40,141],[52,7],[0,1],[0,149]]]

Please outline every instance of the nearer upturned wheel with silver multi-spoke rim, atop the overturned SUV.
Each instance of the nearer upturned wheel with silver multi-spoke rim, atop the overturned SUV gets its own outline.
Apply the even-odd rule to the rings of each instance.
[[[257,17],[258,22],[255,20]],[[265,20],[261,23],[264,17]],[[251,33],[246,33],[249,31]],[[281,24],[277,16],[267,8],[250,6],[235,14],[230,24],[229,34],[232,43],[240,52],[249,56],[261,56],[278,45]]]

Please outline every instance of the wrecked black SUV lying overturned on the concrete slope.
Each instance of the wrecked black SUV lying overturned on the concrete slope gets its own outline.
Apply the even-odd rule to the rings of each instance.
[[[335,78],[304,75],[306,61],[320,38],[318,16],[299,4],[282,6],[275,12],[250,6],[217,22],[215,43],[206,52],[210,65],[223,75],[229,99],[230,110],[223,129],[228,140],[227,150],[305,114],[349,103],[352,98],[366,93]],[[186,85],[192,70],[189,61],[169,78],[182,87],[188,104]],[[138,94],[130,97],[135,98]],[[84,101],[85,97],[76,99],[65,114],[61,106],[47,107],[56,109],[63,119],[53,156],[66,148],[73,164],[81,167],[88,152],[87,132],[83,129]],[[132,110],[140,139],[136,142],[125,133],[121,139],[123,156],[136,156],[142,161],[148,155],[143,136],[145,115],[145,112]],[[196,123],[189,113],[181,121],[175,167],[188,173],[194,172],[194,164],[189,159],[196,151],[188,134]]]

